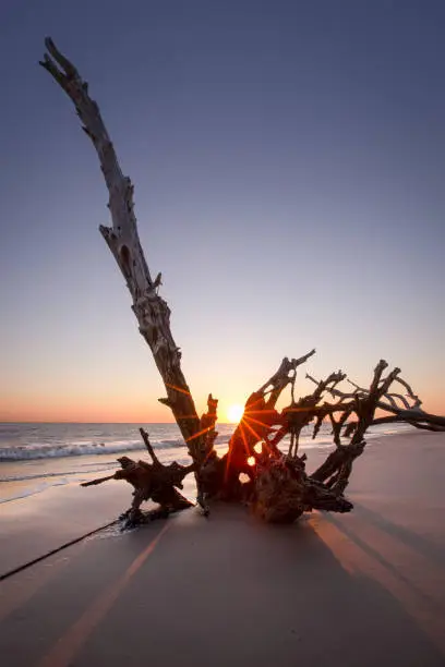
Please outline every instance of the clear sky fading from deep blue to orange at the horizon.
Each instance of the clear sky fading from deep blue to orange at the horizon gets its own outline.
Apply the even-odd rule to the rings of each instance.
[[[47,35],[135,185],[200,411],[316,348],[313,375],[383,357],[445,413],[444,32],[442,0],[2,0],[0,420],[171,421]]]

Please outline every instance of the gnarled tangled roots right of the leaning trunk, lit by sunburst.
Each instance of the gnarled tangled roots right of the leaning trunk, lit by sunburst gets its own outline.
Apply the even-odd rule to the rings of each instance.
[[[308,356],[302,359],[305,361]],[[374,419],[375,410],[382,404],[382,400],[387,400],[389,396],[388,404],[393,411],[398,411],[397,417],[389,419],[402,421],[400,414],[406,413],[406,410],[399,411],[397,400],[405,409],[406,405],[409,407],[410,399],[416,401],[417,405],[420,404],[419,398],[413,395],[409,385],[400,380],[399,368],[394,368],[386,377],[383,377],[387,365],[384,360],[378,362],[368,390],[351,383],[354,387],[352,393],[338,389],[338,385],[347,379],[341,371],[330,374],[322,381],[306,375],[316,387],[312,395],[298,401],[293,397],[294,377],[292,380],[288,377],[288,384],[292,385],[292,400],[281,413],[275,410],[267,412],[262,391],[265,391],[268,385],[264,385],[248,400],[241,423],[230,440],[229,452],[226,457],[230,476],[227,475],[226,469],[222,497],[240,499],[248,496],[255,514],[265,521],[279,523],[294,521],[303,511],[312,509],[350,511],[352,504],[344,497],[344,492],[349,483],[353,461],[364,451],[366,429],[380,421]],[[286,364],[281,364],[278,376],[287,373],[288,369]],[[394,392],[389,393],[389,388],[395,381],[399,381],[408,389],[408,398],[399,397]],[[282,381],[281,377],[281,390],[285,386],[286,381]],[[338,397],[338,402],[318,404],[325,392]],[[251,404],[260,409],[260,415],[264,410],[264,416],[255,421],[256,430],[249,424]],[[338,417],[336,417],[337,412]],[[408,412],[411,414],[411,410]],[[347,424],[347,420],[353,415],[358,417],[357,421]],[[315,420],[314,437],[316,437],[323,421],[327,417],[333,427],[336,449],[327,456],[326,461],[312,475],[308,475],[304,469],[304,458],[298,457],[297,453],[299,435],[304,426]],[[423,419],[425,419],[425,413],[423,413]],[[435,417],[425,427],[435,430],[440,422],[441,419]],[[272,427],[277,424],[280,426],[272,437]],[[345,425],[345,433],[341,435]],[[286,435],[291,436],[288,456],[281,453],[277,448],[278,442]],[[341,441],[341,438],[346,437],[350,439],[348,444]],[[260,442],[262,446],[258,450]],[[249,484],[241,484],[240,474],[249,476]]]

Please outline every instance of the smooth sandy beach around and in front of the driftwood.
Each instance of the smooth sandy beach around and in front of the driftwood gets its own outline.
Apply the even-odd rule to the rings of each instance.
[[[227,506],[99,533],[0,584],[2,664],[444,665],[444,470],[445,434],[390,436],[357,461],[350,514],[270,526]],[[3,523],[3,571],[63,542],[62,516],[79,533],[129,499],[64,492]]]

